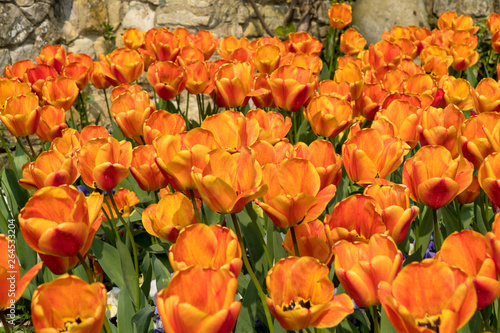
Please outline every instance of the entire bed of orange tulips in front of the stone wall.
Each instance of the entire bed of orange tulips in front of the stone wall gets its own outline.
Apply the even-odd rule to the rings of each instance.
[[[185,28],[7,66],[0,230],[15,212],[37,257],[0,234],[0,310],[24,293],[37,332],[149,332],[155,306],[166,332],[500,327],[500,84],[461,78],[478,27],[446,12],[366,48],[349,5],[329,17],[344,55],[325,67],[305,32]],[[500,14],[486,24],[500,51]],[[89,122],[89,83],[106,102],[113,86],[113,135]]]

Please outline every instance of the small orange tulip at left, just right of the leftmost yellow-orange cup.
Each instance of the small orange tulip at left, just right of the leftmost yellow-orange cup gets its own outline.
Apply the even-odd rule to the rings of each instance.
[[[52,105],[45,105],[40,109],[40,122],[36,135],[43,142],[52,142],[62,136],[62,131],[68,128],[66,124],[66,111]]]

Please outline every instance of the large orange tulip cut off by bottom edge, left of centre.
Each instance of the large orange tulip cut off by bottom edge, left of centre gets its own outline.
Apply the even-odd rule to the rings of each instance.
[[[232,332],[241,309],[234,300],[237,288],[225,269],[196,265],[178,271],[156,297],[165,332]]]

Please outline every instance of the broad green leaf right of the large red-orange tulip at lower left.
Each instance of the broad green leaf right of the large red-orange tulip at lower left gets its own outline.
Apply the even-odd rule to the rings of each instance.
[[[120,262],[116,260],[119,257],[118,250],[108,243],[94,238],[90,251],[92,255],[96,257],[99,265],[101,265],[102,270],[106,273],[111,282],[116,284],[120,289],[125,288]]]

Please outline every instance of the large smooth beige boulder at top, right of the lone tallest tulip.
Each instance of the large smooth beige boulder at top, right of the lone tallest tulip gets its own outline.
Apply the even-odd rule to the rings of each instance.
[[[424,0],[358,0],[352,21],[369,44],[381,40],[382,33],[395,25],[429,26]]]

